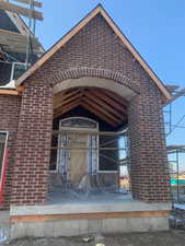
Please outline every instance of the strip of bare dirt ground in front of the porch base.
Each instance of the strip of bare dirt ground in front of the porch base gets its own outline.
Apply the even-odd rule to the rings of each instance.
[[[155,233],[129,233],[106,235],[102,242],[92,239],[83,242],[83,237],[59,238],[24,238],[3,243],[1,246],[95,246],[103,243],[105,246],[185,246],[185,231],[172,230]]]

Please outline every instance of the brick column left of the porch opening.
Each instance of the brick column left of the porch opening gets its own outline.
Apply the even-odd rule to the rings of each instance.
[[[36,204],[46,200],[51,125],[51,87],[27,83],[22,96],[16,141],[13,204]]]

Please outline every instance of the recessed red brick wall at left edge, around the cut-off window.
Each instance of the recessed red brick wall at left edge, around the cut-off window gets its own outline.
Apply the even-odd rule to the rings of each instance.
[[[4,186],[4,201],[0,203],[0,210],[9,209],[10,204],[20,106],[20,96],[0,95],[0,131],[9,131],[8,169]]]

